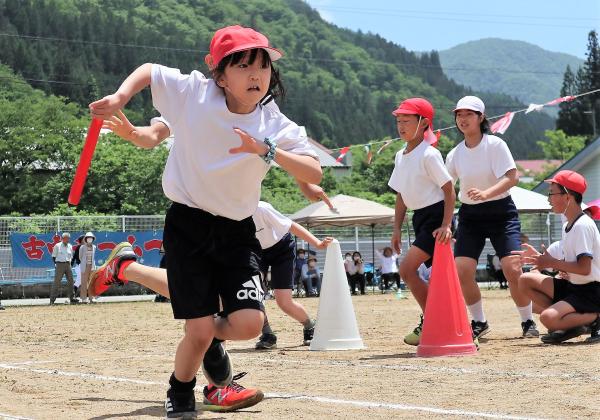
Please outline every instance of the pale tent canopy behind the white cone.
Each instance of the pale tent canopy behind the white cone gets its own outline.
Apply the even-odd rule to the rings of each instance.
[[[394,222],[394,209],[383,204],[343,194],[332,197],[331,202],[334,210],[319,201],[292,214],[290,219],[309,226],[356,226]]]

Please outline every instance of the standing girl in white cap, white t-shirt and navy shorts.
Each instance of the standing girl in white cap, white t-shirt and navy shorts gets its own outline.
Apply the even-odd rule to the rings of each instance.
[[[490,331],[475,281],[477,261],[490,239],[508,280],[510,294],[521,316],[523,337],[537,337],[531,299],[519,291],[523,273],[518,256],[521,222],[510,189],[518,184],[517,166],[506,143],[488,134],[485,105],[476,96],[465,96],[454,109],[456,126],[465,139],[446,157],[450,175],[459,181],[461,201],[454,256],[460,285],[469,312],[473,337]]]

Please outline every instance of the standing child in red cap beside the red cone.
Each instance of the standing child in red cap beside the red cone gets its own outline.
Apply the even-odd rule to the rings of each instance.
[[[392,247],[397,253],[402,246],[402,223],[406,210],[414,211],[412,223],[415,240],[400,263],[400,276],[408,284],[422,311],[427,301],[427,283],[418,274],[419,266],[431,266],[435,241],[448,242],[452,238],[450,226],[456,195],[452,177],[444,166],[442,155],[430,144],[433,134],[431,104],[422,98],[402,102],[392,113],[396,117],[398,134],[406,147],[396,154],[394,172],[389,186],[396,191],[396,214]],[[412,346],[419,344],[421,322],[404,337]]]

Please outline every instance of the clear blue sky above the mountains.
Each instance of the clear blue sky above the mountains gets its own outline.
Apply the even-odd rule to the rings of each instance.
[[[600,32],[600,0],[307,0],[337,26],[378,33],[414,51],[444,50],[481,38],[526,41],[585,58]]]

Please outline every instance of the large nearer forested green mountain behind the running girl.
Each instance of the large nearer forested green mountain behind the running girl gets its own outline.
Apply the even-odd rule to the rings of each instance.
[[[456,100],[473,93],[444,75],[437,52],[417,55],[338,28],[300,0],[3,0],[0,61],[84,107],[144,62],[206,73],[212,34],[231,24],[257,28],[285,52],[276,64],[288,91],[280,106],[330,147],[395,137],[391,110],[409,96],[431,100],[436,127],[450,126]],[[507,95],[483,97],[490,115],[523,106]],[[154,115],[149,91],[127,112],[147,123]],[[515,118],[505,139],[516,157],[537,157],[535,142],[553,125],[542,114]]]

